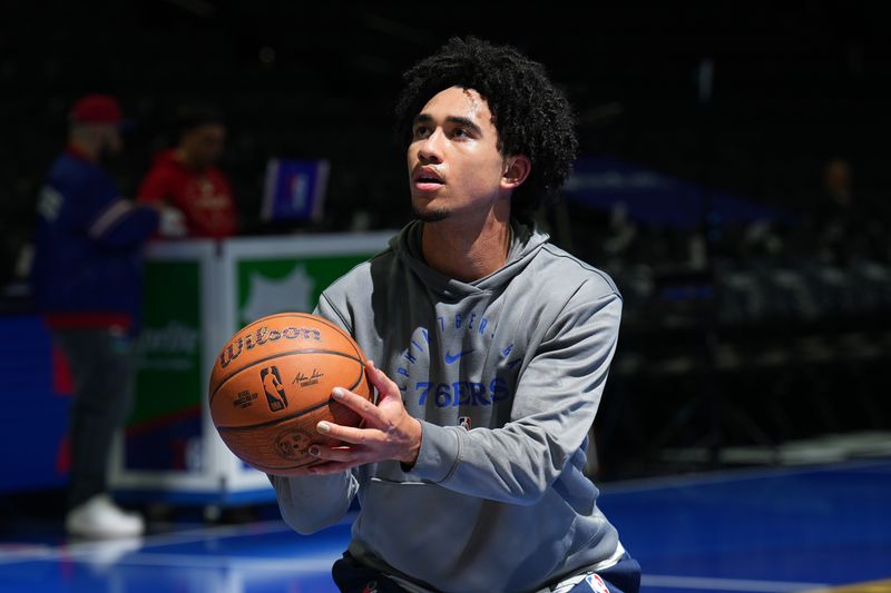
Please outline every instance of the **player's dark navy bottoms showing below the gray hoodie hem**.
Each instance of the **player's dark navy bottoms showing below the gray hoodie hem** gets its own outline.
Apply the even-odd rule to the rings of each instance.
[[[370,569],[345,552],[343,557],[334,563],[332,569],[334,584],[341,593],[405,593],[405,590],[388,579],[381,572]],[[627,553],[618,564],[598,571],[600,583],[609,593],[637,593],[640,590],[640,565]],[[569,593],[589,593],[599,591],[597,584],[589,585],[581,582],[574,586]]]

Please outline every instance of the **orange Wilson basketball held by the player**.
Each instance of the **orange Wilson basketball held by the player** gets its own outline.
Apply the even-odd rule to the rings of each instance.
[[[334,387],[373,398],[365,356],[343,329],[302,313],[248,324],[223,347],[210,375],[210,417],[226,446],[275,473],[322,463],[310,445],[336,446],[320,421],[359,426],[361,416],[331,398]]]

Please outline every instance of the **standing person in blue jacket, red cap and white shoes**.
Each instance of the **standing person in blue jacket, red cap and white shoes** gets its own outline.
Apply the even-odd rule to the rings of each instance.
[[[107,494],[115,429],[128,412],[131,336],[140,307],[140,249],[176,214],[121,197],[102,168],[121,150],[120,106],[89,95],[69,113],[68,145],[37,204],[33,295],[75,382],[66,528],[72,535],[138,535],[143,518]]]

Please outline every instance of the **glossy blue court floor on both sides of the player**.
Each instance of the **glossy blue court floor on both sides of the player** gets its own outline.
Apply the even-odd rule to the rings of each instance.
[[[891,461],[611,484],[601,507],[640,561],[644,591],[825,591],[891,580]],[[345,521],[307,537],[268,521],[114,543],[0,535],[0,591],[335,592],[329,569],[349,528]],[[891,591],[891,582],[870,591]]]

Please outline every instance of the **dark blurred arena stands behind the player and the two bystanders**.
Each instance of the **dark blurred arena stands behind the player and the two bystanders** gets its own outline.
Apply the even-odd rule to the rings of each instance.
[[[880,4],[829,1],[4,2],[0,285],[27,274],[36,196],[87,92],[135,122],[111,162],[125,194],[200,101],[225,115],[242,235],[399,228],[400,75],[473,33],[541,61],[577,110],[581,158],[541,225],[625,297],[603,472],[888,429],[887,26]],[[330,162],[321,218],[261,218],[273,158]]]

